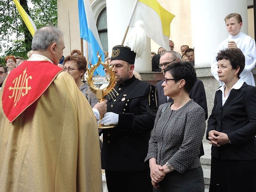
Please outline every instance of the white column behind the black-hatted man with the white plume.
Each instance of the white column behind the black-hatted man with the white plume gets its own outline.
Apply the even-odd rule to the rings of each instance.
[[[111,56],[112,48],[122,43],[134,0],[106,0],[106,4],[108,49],[109,56]],[[135,70],[138,72],[151,71],[151,47],[149,38],[147,38],[147,47],[143,58],[135,60]]]

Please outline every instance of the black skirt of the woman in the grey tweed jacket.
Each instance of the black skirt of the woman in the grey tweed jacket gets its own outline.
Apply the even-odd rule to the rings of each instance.
[[[204,192],[202,167],[187,169],[183,174],[172,171],[165,175],[154,192]]]

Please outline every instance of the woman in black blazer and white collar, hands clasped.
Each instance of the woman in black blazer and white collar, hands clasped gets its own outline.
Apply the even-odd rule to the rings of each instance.
[[[256,88],[240,73],[245,56],[240,49],[218,53],[219,80],[206,139],[212,144],[209,192],[256,191]]]

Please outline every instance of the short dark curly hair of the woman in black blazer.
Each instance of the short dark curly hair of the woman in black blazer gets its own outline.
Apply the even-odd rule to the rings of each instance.
[[[216,61],[226,59],[230,62],[232,69],[240,67],[238,77],[245,68],[245,55],[240,49],[223,49],[218,52]]]

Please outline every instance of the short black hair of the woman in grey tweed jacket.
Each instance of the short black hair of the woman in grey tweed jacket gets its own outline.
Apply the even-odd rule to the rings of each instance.
[[[174,79],[184,79],[184,90],[189,93],[197,80],[197,73],[194,66],[187,61],[175,61],[164,69],[164,74],[169,72]],[[175,83],[178,80],[175,80]]]

